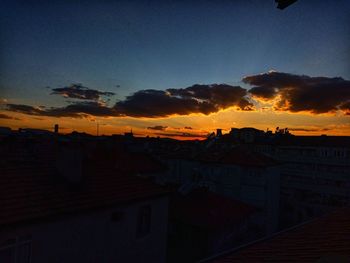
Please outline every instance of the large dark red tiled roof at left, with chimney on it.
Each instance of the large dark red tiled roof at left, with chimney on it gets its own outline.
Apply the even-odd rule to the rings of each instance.
[[[69,184],[50,166],[0,167],[0,226],[73,214],[165,194],[149,180],[89,165]]]

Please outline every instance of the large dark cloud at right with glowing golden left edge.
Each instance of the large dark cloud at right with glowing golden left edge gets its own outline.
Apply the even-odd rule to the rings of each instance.
[[[350,81],[343,78],[309,77],[270,71],[243,78],[254,86],[249,90],[253,98],[277,99],[275,110],[314,114],[350,114]]]

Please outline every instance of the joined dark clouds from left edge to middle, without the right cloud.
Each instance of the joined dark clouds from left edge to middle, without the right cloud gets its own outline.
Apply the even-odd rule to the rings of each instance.
[[[55,89],[53,94],[70,98],[89,99],[90,101],[73,102],[64,107],[51,108],[6,104],[6,110],[51,117],[81,118],[86,115],[93,115],[157,118],[173,114],[202,113],[208,115],[231,106],[236,106],[240,110],[251,110],[253,107],[246,99],[247,91],[245,89],[226,84],[193,85],[185,89],[167,89],[165,91],[140,90],[127,96],[125,100],[118,101],[112,107],[108,107],[100,101],[102,93],[106,95],[105,92],[85,87],[84,89],[81,87],[72,88],[70,86]]]

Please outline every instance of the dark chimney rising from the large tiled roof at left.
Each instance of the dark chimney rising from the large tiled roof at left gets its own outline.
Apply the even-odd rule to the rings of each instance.
[[[77,145],[60,145],[56,155],[56,168],[68,182],[76,184],[82,179],[83,154]]]

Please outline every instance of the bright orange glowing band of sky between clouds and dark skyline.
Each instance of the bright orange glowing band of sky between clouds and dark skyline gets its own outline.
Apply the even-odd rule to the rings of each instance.
[[[178,140],[204,139],[204,136],[222,128],[228,133],[232,127],[255,127],[266,131],[275,127],[288,127],[295,135],[334,135],[350,136],[349,116],[342,114],[319,114],[309,112],[290,113],[281,111],[236,111],[233,108],[221,110],[209,115],[190,114],[162,118],[134,118],[134,117],[91,117],[91,118],[56,118],[30,116],[21,113],[0,111],[8,118],[0,118],[0,126],[7,126],[14,130],[19,128],[36,128],[53,131],[53,126],[60,125],[60,133],[72,131],[97,133],[99,123],[100,135],[124,134],[133,130],[135,136],[171,137]],[[148,129],[161,125],[164,130]],[[187,129],[185,129],[187,127]],[[190,129],[189,129],[189,128]]]

